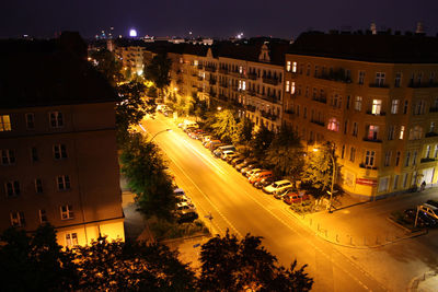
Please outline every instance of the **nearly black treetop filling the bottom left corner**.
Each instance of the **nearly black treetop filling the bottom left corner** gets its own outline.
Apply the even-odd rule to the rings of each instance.
[[[4,291],[74,290],[79,276],[72,255],[56,242],[55,229],[42,225],[33,236],[5,230],[0,241],[1,288]]]

